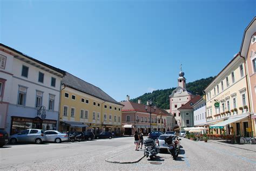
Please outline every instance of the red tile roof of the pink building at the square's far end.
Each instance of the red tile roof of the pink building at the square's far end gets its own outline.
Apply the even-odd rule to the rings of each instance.
[[[147,111],[150,111],[150,107],[147,109],[147,111],[145,110],[145,106],[144,104],[137,104],[136,102],[131,102],[131,101],[122,101],[120,102],[122,105],[124,105],[124,107],[122,108],[122,112],[129,112],[129,111],[138,111],[138,112],[146,112],[149,113]],[[154,111],[153,107],[152,107],[152,111]],[[169,115],[169,113],[161,108],[157,108],[156,112],[152,112],[154,114],[164,114],[164,115]]]

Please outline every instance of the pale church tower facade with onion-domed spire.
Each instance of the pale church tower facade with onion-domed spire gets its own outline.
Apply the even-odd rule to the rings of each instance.
[[[186,89],[185,73],[180,71],[178,78],[178,87],[169,95],[170,98],[170,113],[174,115],[174,129],[181,127],[181,115],[178,110],[179,107],[185,105],[190,101],[194,95]]]

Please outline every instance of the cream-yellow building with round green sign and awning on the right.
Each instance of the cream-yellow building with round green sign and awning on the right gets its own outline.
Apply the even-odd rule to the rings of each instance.
[[[248,88],[244,58],[237,54],[205,89],[209,132],[249,136]]]

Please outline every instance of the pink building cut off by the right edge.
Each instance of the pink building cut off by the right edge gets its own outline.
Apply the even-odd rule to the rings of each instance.
[[[247,26],[242,38],[240,56],[246,60],[248,96],[250,97],[249,112],[252,114],[252,129],[256,136],[256,17]]]

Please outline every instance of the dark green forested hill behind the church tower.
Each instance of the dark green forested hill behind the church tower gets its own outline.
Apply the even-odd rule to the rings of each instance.
[[[211,83],[213,79],[214,77],[209,77],[209,78],[203,78],[203,79],[188,83],[186,85],[187,90],[190,90],[191,92],[193,92],[193,94],[203,95],[204,89],[208,84]],[[151,99],[157,105],[157,107],[170,109],[169,95],[172,94],[172,91],[175,90],[175,88],[176,87],[172,87],[165,90],[156,90],[156,91],[153,91],[152,93],[145,93],[140,97],[131,99],[130,101],[138,102],[138,98],[140,98],[142,99],[142,103],[146,104],[146,101]]]

